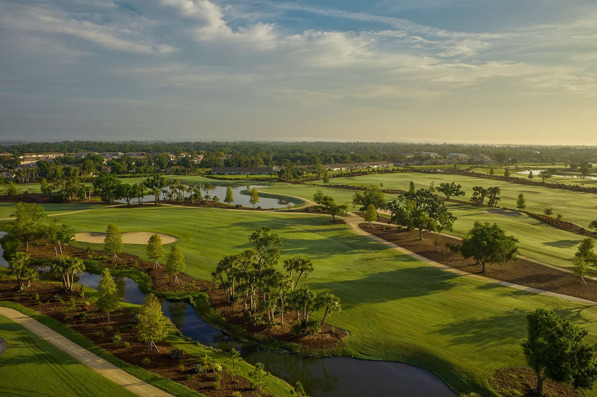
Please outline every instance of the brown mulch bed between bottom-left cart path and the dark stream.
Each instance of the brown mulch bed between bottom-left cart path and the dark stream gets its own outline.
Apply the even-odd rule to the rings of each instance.
[[[197,358],[189,354],[184,355],[182,359],[170,358],[168,354],[173,348],[170,343],[164,341],[156,343],[159,352],[155,350],[151,353],[147,352],[147,343],[139,342],[137,331],[133,326],[135,311],[121,309],[113,314],[110,313],[110,321],[107,321],[107,319],[103,320],[103,314],[95,311],[96,308],[92,303],[86,312],[87,320],[82,322],[78,315],[83,312],[83,299],[79,296],[78,291],[65,292],[61,284],[44,283],[43,281],[35,281],[32,286],[19,293],[16,292],[16,287],[16,280],[0,280],[0,300],[20,303],[20,305],[61,321],[123,361],[139,365],[152,373],[168,377],[174,382],[184,384],[189,389],[210,397],[226,397],[235,391],[233,390],[232,376],[225,370],[219,373],[219,389],[214,389],[214,380],[212,379],[214,374],[211,372],[196,374],[193,379],[187,379],[189,368],[195,364]],[[39,294],[39,301],[34,299],[35,294]],[[61,297],[63,302],[54,300],[56,294]],[[70,297],[75,297],[77,300],[77,305],[73,309],[67,309],[64,303]],[[73,318],[67,318],[65,321],[66,316]],[[122,340],[114,343],[112,337],[117,330],[119,330]],[[130,343],[130,346],[125,348],[124,342]],[[142,361],[146,357],[150,359],[150,363],[143,365]],[[242,396],[254,395],[254,390],[250,389],[250,382],[239,376],[236,377],[236,391],[241,392]]]

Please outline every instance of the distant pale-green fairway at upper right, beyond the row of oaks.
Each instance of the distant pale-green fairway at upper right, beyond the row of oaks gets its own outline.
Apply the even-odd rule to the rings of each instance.
[[[442,182],[456,182],[461,184],[466,196],[458,197],[469,200],[473,186],[497,186],[501,190],[500,207],[515,208],[516,198],[519,193],[524,194],[527,200],[527,210],[543,213],[547,207],[552,207],[553,213],[562,213],[566,221],[573,222],[581,227],[588,227],[590,221],[597,219],[597,194],[583,193],[562,189],[553,189],[538,186],[525,186],[510,182],[491,181],[489,179],[475,178],[473,176],[450,175],[442,173],[392,173],[356,176],[354,178],[333,178],[330,183],[347,185],[379,185],[383,183],[386,189],[408,190],[408,184],[414,181],[418,188],[427,188],[431,182],[438,186]],[[321,181],[311,182],[321,184]]]

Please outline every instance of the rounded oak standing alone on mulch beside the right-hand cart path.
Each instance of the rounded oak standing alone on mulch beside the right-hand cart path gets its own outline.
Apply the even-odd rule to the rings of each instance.
[[[475,222],[462,244],[448,243],[446,246],[452,251],[460,253],[464,258],[474,258],[477,265],[482,266],[485,274],[486,264],[504,265],[509,260],[516,260],[518,255],[518,238],[506,235],[504,229],[489,222]]]

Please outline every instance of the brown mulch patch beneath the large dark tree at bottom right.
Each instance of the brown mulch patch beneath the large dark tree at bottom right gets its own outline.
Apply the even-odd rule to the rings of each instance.
[[[526,367],[502,368],[496,371],[489,382],[498,393],[503,396],[537,397],[533,392],[537,386],[537,376]],[[583,397],[580,390],[570,384],[557,383],[546,379],[543,381],[543,396],[545,397]]]

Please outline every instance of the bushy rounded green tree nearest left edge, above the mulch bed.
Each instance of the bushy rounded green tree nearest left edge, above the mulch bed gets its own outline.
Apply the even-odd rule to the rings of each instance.
[[[10,216],[15,219],[8,224],[7,234],[25,243],[25,251],[29,250],[31,243],[44,237],[45,227],[42,222],[47,215],[40,204],[17,203]]]

